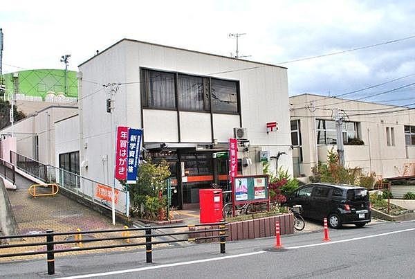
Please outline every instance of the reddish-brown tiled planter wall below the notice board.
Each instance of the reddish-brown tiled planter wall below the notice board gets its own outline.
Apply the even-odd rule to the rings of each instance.
[[[288,235],[294,233],[293,214],[289,213],[229,223],[226,225],[226,228],[228,228],[228,231],[226,231],[226,234],[228,235],[228,237],[226,237],[226,241],[248,240],[260,237],[275,236],[275,222],[279,222],[281,235]],[[190,233],[189,238],[219,235],[219,232],[217,231],[205,232],[206,230],[210,230],[212,228],[218,228],[218,226],[203,226],[190,228],[190,231],[194,231],[194,233]],[[217,241],[219,241],[218,238],[213,238],[210,240],[197,240],[196,243]]]

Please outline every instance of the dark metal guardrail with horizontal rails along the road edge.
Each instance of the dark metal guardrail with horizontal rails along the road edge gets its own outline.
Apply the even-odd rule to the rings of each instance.
[[[78,231],[67,232],[67,233],[55,233],[52,230],[47,230],[46,233],[39,233],[36,235],[6,235],[6,236],[0,236],[0,240],[10,240],[10,239],[16,239],[16,238],[29,238],[29,237],[30,238],[46,237],[46,242],[33,242],[33,243],[24,243],[24,244],[2,244],[0,245],[0,252],[2,249],[29,247],[29,246],[46,246],[46,251],[28,251],[24,253],[0,254],[0,258],[46,254],[47,264],[48,264],[48,274],[53,275],[55,274],[55,253],[111,249],[111,248],[130,247],[130,246],[145,246],[146,262],[151,263],[153,262],[152,246],[155,244],[186,242],[186,241],[196,242],[196,240],[208,240],[208,239],[214,239],[214,238],[219,238],[220,251],[221,253],[225,253],[225,239],[226,237],[228,237],[228,235],[226,235],[226,231],[228,231],[228,228],[226,228],[226,224],[227,224],[226,222],[219,222],[219,223],[209,223],[209,224],[156,226],[156,227],[146,225],[145,228],[124,227],[122,229],[113,229],[113,230],[104,230],[104,231],[82,231],[81,232],[80,230],[78,230]],[[179,232],[179,233],[156,233],[154,234],[154,233],[151,233],[152,230],[158,230],[160,228],[191,228],[195,226],[218,226],[218,228],[208,229],[208,230],[205,230],[205,232],[211,232],[212,234],[214,232],[219,232],[219,235],[187,238],[185,240],[165,240],[165,241],[153,241],[152,240],[153,237],[185,235],[189,233],[194,233],[194,231],[184,231],[184,232]],[[145,231],[145,235],[129,235],[129,232],[131,231]],[[117,232],[122,233],[122,236],[121,237],[91,238],[91,239],[82,240],[83,234],[117,233]],[[75,240],[54,241],[55,236],[61,236],[61,235],[75,235]],[[108,240],[131,240],[134,238],[145,238],[145,242],[129,243],[129,241],[127,241],[126,244],[91,246],[91,247],[84,247],[82,245],[82,243],[85,243],[85,242],[102,242],[102,241],[108,241]],[[79,248],[55,249],[55,244],[80,244],[80,245],[79,245]]]

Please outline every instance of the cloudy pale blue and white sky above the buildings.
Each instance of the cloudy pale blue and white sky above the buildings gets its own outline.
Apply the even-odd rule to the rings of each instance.
[[[411,0],[2,1],[3,72],[62,68],[59,58],[66,53],[70,69],[76,70],[95,50],[124,37],[230,55],[235,41],[228,33],[246,33],[239,54],[288,67],[291,96],[337,96],[388,82],[347,95],[363,98],[415,82],[415,37],[282,62],[410,37],[414,18]],[[415,85],[363,100],[409,105],[414,91]]]

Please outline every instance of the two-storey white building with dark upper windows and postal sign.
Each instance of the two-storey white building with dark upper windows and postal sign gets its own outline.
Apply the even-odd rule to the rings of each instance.
[[[112,184],[119,125],[143,128],[148,154],[169,161],[179,208],[199,202],[200,188],[225,183],[226,160],[212,153],[228,150],[234,128],[246,128],[239,136],[249,140],[239,148],[243,174],[262,173],[259,151],[285,152],[278,165],[293,172],[284,67],[122,39],[79,69],[84,177]],[[113,114],[106,110],[111,90]],[[279,129],[267,133],[273,121]]]

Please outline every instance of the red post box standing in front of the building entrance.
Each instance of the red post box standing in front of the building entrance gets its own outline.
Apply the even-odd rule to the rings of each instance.
[[[201,223],[216,223],[223,219],[223,200],[221,189],[199,190],[199,201],[201,209]]]

